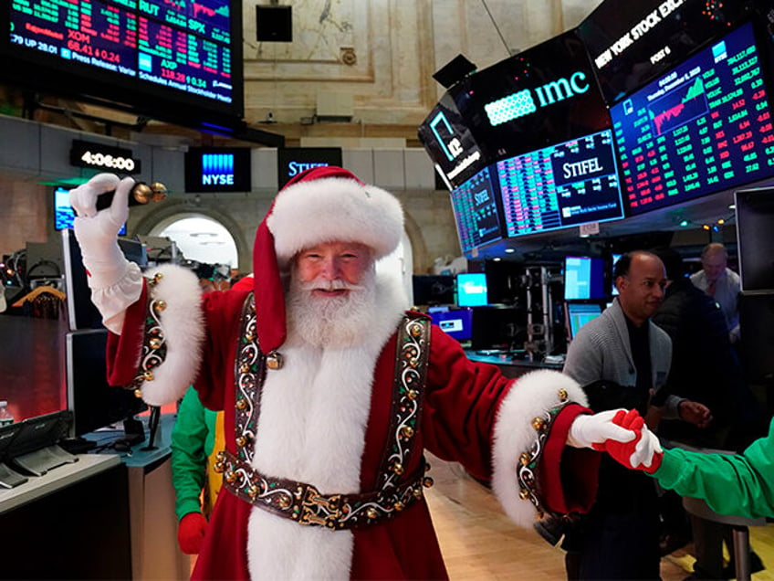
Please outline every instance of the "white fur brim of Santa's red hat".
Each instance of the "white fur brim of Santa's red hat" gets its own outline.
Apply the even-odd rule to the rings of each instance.
[[[403,208],[375,185],[324,177],[288,185],[277,195],[267,227],[280,265],[323,242],[360,242],[387,256],[403,236]]]

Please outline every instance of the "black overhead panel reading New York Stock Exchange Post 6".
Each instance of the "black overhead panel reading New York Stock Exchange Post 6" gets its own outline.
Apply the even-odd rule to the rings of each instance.
[[[672,69],[770,0],[606,0],[580,26],[608,103]]]

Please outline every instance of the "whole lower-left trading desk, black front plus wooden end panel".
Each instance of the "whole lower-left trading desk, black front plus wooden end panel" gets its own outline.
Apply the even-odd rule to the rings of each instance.
[[[0,489],[0,578],[187,579],[174,514],[174,419],[162,416],[154,449],[144,449],[144,418],[146,441],[128,452],[79,454]]]

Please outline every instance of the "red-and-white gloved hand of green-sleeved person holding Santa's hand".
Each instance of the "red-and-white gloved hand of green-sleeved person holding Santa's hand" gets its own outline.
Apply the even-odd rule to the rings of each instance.
[[[643,417],[634,409],[628,412],[618,410],[612,421],[621,428],[632,430],[636,437],[628,442],[608,439],[603,444],[595,444],[594,449],[606,451],[626,468],[644,470],[649,474],[658,470],[664,450],[656,435],[645,426]]]

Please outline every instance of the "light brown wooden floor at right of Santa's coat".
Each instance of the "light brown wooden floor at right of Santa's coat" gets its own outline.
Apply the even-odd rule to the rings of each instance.
[[[435,484],[426,496],[453,580],[566,578],[561,549],[511,523],[492,493],[458,465],[431,456],[428,461]],[[769,567],[752,578],[774,581],[774,524],[750,528],[750,538]],[[664,557],[662,578],[681,581],[693,571],[693,562],[686,550]]]

